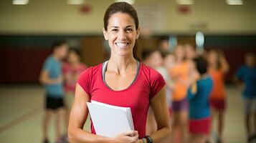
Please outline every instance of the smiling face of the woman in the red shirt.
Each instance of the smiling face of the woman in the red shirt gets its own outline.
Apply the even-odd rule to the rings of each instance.
[[[133,54],[133,46],[138,39],[139,28],[129,14],[115,13],[108,19],[108,30],[103,34],[111,48],[111,54],[126,56]]]

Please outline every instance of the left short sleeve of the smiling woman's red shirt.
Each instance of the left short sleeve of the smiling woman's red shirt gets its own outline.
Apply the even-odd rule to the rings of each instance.
[[[90,96],[91,94],[91,83],[92,83],[92,76],[93,76],[93,71],[92,67],[86,69],[85,71],[80,74],[80,76],[77,79],[77,84],[84,89],[84,91]]]

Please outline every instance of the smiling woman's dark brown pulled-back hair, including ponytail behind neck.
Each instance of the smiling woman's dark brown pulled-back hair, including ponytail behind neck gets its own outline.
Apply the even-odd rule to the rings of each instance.
[[[110,16],[112,16],[113,14],[115,14],[117,12],[129,14],[134,20],[136,29],[138,29],[138,15],[137,15],[136,10],[133,8],[133,6],[131,6],[131,4],[128,4],[127,2],[115,2],[115,3],[111,4],[110,6],[108,6],[108,9],[105,11],[105,15],[104,15],[105,31],[108,30],[108,19],[110,19]],[[136,60],[141,61],[140,57],[138,56],[138,48],[137,48],[136,44],[133,47],[133,57]]]

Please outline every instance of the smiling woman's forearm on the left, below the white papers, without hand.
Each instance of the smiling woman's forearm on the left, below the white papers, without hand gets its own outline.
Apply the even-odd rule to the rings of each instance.
[[[74,143],[112,143],[113,139],[109,137],[102,137],[90,132],[86,132],[80,128],[69,129],[68,137],[70,142]]]

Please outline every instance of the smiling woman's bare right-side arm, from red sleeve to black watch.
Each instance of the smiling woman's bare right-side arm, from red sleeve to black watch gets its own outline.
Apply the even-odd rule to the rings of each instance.
[[[168,107],[166,104],[166,87],[163,87],[151,99],[151,107],[156,117],[158,130],[152,134],[153,142],[162,142],[171,133]]]

